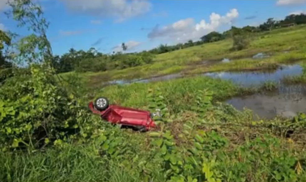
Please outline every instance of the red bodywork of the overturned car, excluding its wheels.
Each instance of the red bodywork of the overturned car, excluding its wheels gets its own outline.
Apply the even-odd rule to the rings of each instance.
[[[118,105],[109,105],[105,110],[99,111],[93,102],[90,102],[88,106],[94,114],[99,114],[103,119],[113,124],[145,128],[146,131],[156,126],[149,111]]]

